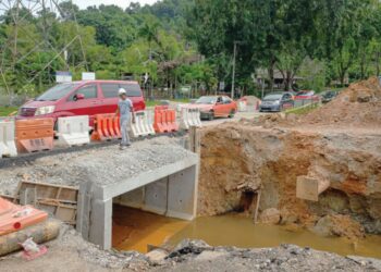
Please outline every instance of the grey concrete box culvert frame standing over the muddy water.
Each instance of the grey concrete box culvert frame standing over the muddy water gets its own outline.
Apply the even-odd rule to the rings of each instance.
[[[198,158],[195,157],[111,185],[83,183],[79,186],[77,231],[101,248],[111,248],[113,202],[193,220],[197,210],[197,186]]]

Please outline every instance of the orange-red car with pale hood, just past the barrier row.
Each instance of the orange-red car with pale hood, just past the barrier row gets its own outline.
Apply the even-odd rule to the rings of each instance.
[[[186,108],[199,109],[204,120],[234,118],[234,114],[237,112],[236,102],[226,96],[204,96],[193,104],[186,106]]]

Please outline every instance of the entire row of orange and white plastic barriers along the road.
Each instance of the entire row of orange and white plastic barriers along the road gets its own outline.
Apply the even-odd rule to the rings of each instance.
[[[179,131],[176,112],[168,106],[151,111],[136,112],[135,123],[131,125],[134,137],[171,133]],[[201,126],[198,109],[183,109],[180,124],[183,129]],[[59,118],[54,135],[53,119],[0,120],[0,159],[23,152],[53,149],[54,136],[61,146],[79,146],[90,140],[111,140],[121,138],[120,118],[114,114],[97,114],[94,131],[89,135],[89,116]]]

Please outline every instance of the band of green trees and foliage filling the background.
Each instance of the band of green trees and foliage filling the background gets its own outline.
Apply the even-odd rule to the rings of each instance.
[[[173,94],[186,85],[214,94],[219,82],[230,89],[234,45],[235,84],[245,94],[257,94],[258,69],[269,83],[280,71],[285,89],[303,77],[299,88],[318,91],[381,73],[378,0],[162,0],[125,11],[65,1],[58,14],[21,7],[17,27],[16,12],[0,16],[7,92],[41,91],[57,71],[72,71],[74,79],[94,71],[101,79],[132,74],[147,89]]]

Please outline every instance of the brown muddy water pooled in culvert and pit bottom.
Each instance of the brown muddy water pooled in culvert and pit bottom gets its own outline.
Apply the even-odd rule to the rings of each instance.
[[[358,255],[381,258],[381,236],[368,236],[353,244],[345,238],[325,238],[308,231],[291,231],[283,226],[254,225],[239,214],[198,218],[193,222],[120,208],[114,212],[113,245],[121,250],[146,252],[147,244],[176,245],[184,238],[202,239],[212,246],[242,248],[275,247],[295,244],[342,256]]]

